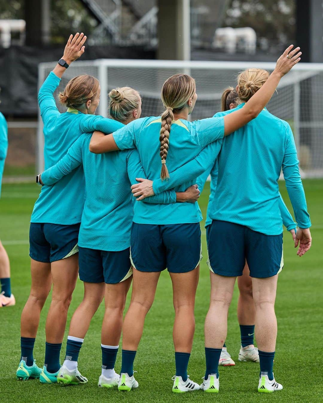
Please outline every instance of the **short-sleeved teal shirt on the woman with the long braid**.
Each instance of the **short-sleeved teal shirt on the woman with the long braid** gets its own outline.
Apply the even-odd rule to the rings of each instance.
[[[153,181],[160,178],[161,159],[159,155],[160,116],[151,116],[134,120],[127,126],[113,133],[113,138],[120,150],[137,148],[141,163],[148,179]],[[189,162],[209,143],[218,144],[220,150],[224,136],[224,119],[208,118],[188,122],[178,119],[173,121],[170,129],[169,149],[166,165],[172,172]],[[172,173],[170,174],[172,179]],[[172,186],[172,181],[169,186]],[[196,183],[195,179],[187,181],[174,190],[185,191]],[[202,219],[201,210],[196,202],[176,204],[147,204],[138,202],[134,206],[134,222],[138,224],[185,224],[199,222]]]

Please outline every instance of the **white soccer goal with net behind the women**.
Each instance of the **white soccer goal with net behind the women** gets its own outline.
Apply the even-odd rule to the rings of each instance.
[[[56,62],[39,65],[39,87]],[[175,73],[190,74],[196,80],[197,103],[191,119],[211,117],[219,111],[222,90],[235,87],[240,71],[260,67],[273,71],[268,62],[208,62],[173,60],[100,59],[74,62],[63,76],[58,91],[80,74],[97,77],[101,85],[98,114],[108,116],[108,92],[129,86],[141,93],[142,117],[158,116],[162,110],[160,90],[164,81]],[[65,112],[58,103],[61,112]],[[303,177],[323,177],[323,64],[299,63],[281,79],[268,110],[287,120],[292,127]],[[44,166],[42,121],[38,124],[38,172]]]

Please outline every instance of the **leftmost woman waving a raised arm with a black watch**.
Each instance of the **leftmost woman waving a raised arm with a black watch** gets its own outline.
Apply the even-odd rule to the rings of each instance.
[[[115,120],[95,116],[99,105],[99,81],[89,75],[74,77],[59,95],[67,112],[57,109],[53,93],[65,70],[84,53],[86,36],[70,35],[63,58],[48,75],[38,93],[44,123],[45,168],[59,161],[84,132],[95,129],[112,133],[122,127]],[[80,190],[81,189],[81,190]],[[78,276],[78,232],[84,205],[82,168],[71,172],[52,187],[43,187],[31,215],[29,255],[31,291],[21,315],[21,359],[18,379],[40,378],[57,382],[59,354],[67,310]],[[46,320],[45,365],[36,366],[33,349],[40,312],[53,283],[52,301]]]

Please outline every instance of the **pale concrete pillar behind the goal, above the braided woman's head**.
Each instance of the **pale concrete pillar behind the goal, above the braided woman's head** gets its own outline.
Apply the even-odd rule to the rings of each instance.
[[[190,60],[190,0],[158,0],[157,4],[157,58],[163,60]]]

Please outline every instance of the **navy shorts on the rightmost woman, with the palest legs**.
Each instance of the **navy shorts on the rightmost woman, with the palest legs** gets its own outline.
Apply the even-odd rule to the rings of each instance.
[[[242,276],[245,261],[250,276],[272,277],[281,272],[283,234],[265,235],[233,222],[213,220],[208,226],[208,265],[220,276]]]

